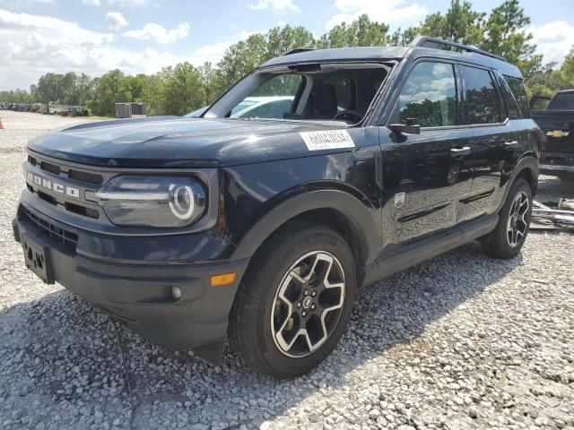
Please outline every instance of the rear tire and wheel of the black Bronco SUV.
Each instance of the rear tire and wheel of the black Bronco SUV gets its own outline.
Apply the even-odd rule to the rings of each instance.
[[[531,215],[532,188],[520,177],[510,187],[496,228],[481,239],[484,253],[501,260],[515,257],[526,241]]]

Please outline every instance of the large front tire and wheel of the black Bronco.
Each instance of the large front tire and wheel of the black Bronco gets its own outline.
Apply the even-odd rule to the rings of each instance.
[[[241,281],[230,346],[263,374],[305,374],[343,335],[355,289],[355,263],[343,237],[317,224],[290,223],[265,242]]]

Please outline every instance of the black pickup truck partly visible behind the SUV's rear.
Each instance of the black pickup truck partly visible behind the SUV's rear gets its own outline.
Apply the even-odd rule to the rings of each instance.
[[[543,132],[540,171],[574,177],[574,90],[558,91],[531,116]]]

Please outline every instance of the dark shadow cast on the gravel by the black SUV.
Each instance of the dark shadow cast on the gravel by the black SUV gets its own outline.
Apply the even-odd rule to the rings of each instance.
[[[516,270],[521,261],[520,256],[491,260],[473,243],[362,288],[333,353],[316,370],[291,381],[257,374],[229,350],[222,366],[212,366],[191,353],[155,347],[61,290],[0,312],[0,360],[5,365],[0,397],[15,399],[10,410],[25,408],[30,414],[34,402],[48,405],[61,420],[55,428],[91,426],[93,415],[84,416],[82,408],[94,405],[100,405],[102,419],[111,423],[117,417],[123,428],[128,428],[130,408],[134,428],[258,427],[300,407],[317,391],[344,387],[370,360],[416,342],[425,327]],[[114,327],[125,353],[131,405]],[[55,419],[43,414],[38,419],[46,424]]]

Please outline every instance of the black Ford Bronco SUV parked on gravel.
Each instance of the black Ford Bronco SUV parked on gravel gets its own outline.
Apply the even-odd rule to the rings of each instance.
[[[229,336],[249,366],[303,374],[361,285],[474,239],[520,251],[540,140],[524,97],[517,67],[438,39],[298,49],[201,117],[31,140],[14,236],[42,280],[153,343],[217,362]]]

